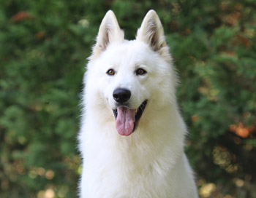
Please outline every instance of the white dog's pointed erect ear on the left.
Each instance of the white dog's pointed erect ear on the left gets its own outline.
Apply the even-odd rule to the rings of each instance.
[[[97,43],[94,46],[94,55],[106,50],[108,44],[114,41],[123,40],[124,31],[121,31],[114,12],[112,10],[109,10],[99,26]]]

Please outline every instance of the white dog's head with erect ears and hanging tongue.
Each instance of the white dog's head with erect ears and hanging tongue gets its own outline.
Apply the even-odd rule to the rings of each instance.
[[[124,39],[116,16],[108,11],[89,59],[86,84],[91,85],[86,89],[93,87],[97,98],[92,100],[113,111],[110,116],[120,135],[132,134],[145,114],[157,114],[175,102],[176,77],[154,10],[147,13],[132,41]]]

